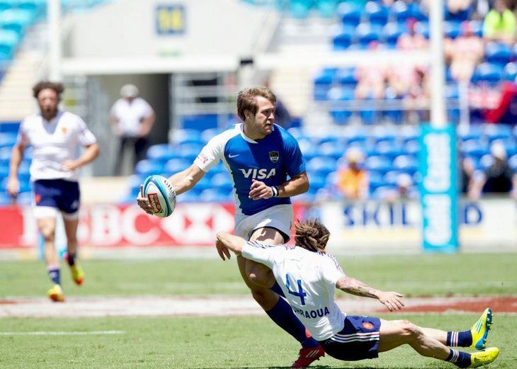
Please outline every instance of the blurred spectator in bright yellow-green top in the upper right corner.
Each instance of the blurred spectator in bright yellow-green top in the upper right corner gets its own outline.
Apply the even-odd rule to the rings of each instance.
[[[485,40],[513,43],[517,30],[515,14],[508,8],[506,1],[496,0],[494,8],[487,13],[483,22]]]

